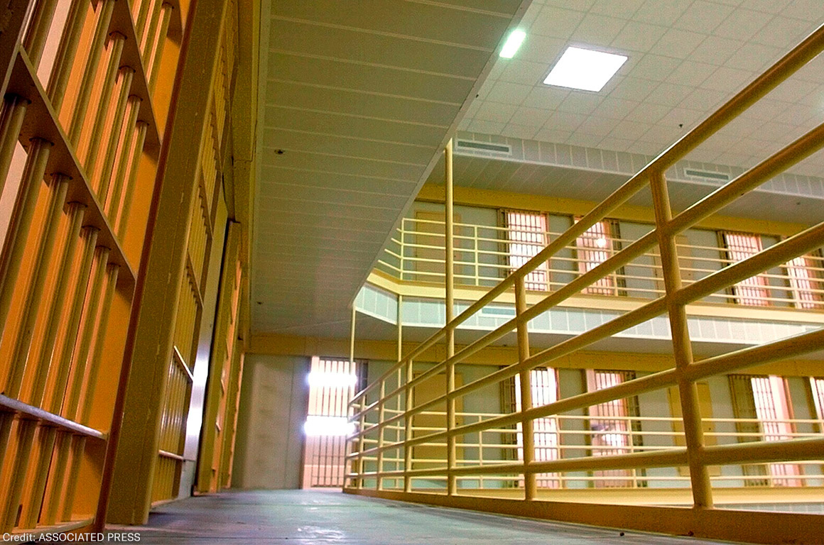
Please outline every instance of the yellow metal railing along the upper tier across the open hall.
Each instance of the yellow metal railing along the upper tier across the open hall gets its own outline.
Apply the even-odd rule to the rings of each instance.
[[[436,282],[443,284],[446,277],[443,258],[444,221],[420,218],[404,218],[378,259],[377,269],[407,282]],[[650,230],[653,226],[649,226]],[[456,223],[455,234],[455,282],[461,286],[494,286],[513,272],[513,263],[524,263],[537,252],[527,254],[524,249],[538,249],[532,242],[517,240],[519,235],[534,235],[543,240],[555,240],[561,233],[551,231],[518,231],[517,228]],[[438,234],[433,234],[439,232]],[[510,240],[512,237],[513,240]],[[603,247],[597,249],[606,256],[614,256],[621,248],[635,240],[607,236]],[[543,248],[543,245],[541,245]],[[676,244],[679,255],[681,281],[691,284],[732,264],[727,249],[722,245]],[[579,259],[578,252],[591,251],[576,243],[559,249],[552,259],[541,263],[527,276],[527,291],[556,291],[579,277],[597,263]],[[440,254],[440,255],[438,255]],[[733,286],[731,289],[711,293],[705,298],[710,303],[737,303],[758,306],[780,306],[804,310],[824,310],[824,258],[817,253],[804,257],[803,277],[800,285],[792,262],[762,272],[758,282]],[[639,299],[656,299],[665,293],[661,254],[657,245],[607,275],[609,282],[602,282],[587,295],[626,296]],[[747,279],[749,280],[749,279]],[[741,293],[738,290],[745,291]]]

